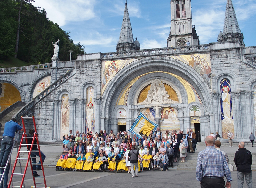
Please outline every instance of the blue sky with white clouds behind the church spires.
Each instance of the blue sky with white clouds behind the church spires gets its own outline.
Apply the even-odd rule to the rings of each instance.
[[[191,0],[192,23],[200,44],[217,42],[223,29],[226,0]],[[233,0],[246,46],[256,46],[256,1]],[[125,0],[35,0],[47,17],[70,32],[71,39],[84,45],[86,53],[115,52]],[[141,49],[167,47],[170,32],[170,0],[127,0],[133,37]]]

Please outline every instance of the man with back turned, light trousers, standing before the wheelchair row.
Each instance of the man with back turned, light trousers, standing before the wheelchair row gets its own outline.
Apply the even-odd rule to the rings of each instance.
[[[130,165],[131,165],[132,177],[134,177],[134,166],[135,166],[135,177],[138,177],[138,173],[139,173],[138,159],[141,163],[140,154],[135,149],[135,146],[132,145],[132,150],[128,153],[128,160],[130,161]]]

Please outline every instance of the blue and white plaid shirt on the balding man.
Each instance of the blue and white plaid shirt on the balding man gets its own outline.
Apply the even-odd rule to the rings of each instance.
[[[207,146],[197,156],[196,179],[201,182],[204,176],[225,176],[228,182],[232,181],[225,156],[214,146]]]

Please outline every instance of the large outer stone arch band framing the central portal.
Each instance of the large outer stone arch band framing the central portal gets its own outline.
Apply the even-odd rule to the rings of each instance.
[[[212,113],[210,88],[195,69],[170,57],[146,57],[125,66],[108,84],[102,95],[102,109],[104,110],[101,111],[101,118],[105,119],[106,125],[111,124],[111,114],[124,87],[137,76],[153,71],[170,72],[185,79],[197,91],[205,111],[208,114]],[[134,106],[130,107],[133,108]]]

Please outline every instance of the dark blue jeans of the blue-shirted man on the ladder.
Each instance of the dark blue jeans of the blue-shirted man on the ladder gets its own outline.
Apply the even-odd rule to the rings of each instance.
[[[2,138],[2,148],[1,148],[1,153],[0,153],[0,165],[1,166],[5,166],[6,162],[8,160],[9,154],[11,152],[12,149],[12,145],[13,145],[13,138],[9,138],[9,137],[4,137]]]

